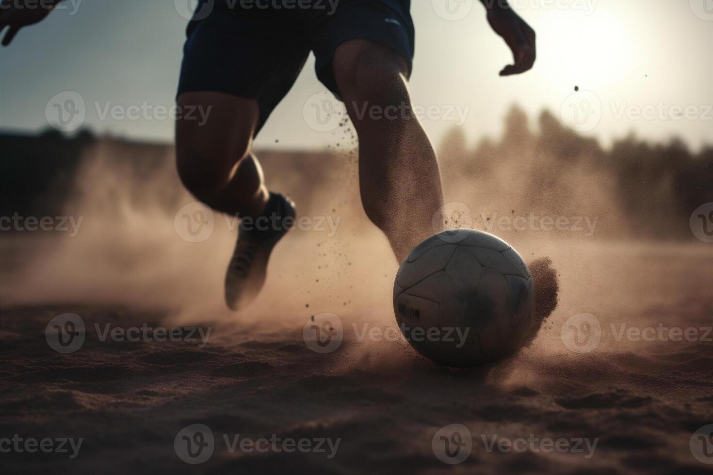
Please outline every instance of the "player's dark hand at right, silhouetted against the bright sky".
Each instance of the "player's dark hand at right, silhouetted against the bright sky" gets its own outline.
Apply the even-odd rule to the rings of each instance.
[[[508,64],[501,76],[520,74],[528,71],[535,63],[535,31],[509,7],[488,10],[488,23],[502,36],[511,51],[514,64]]]

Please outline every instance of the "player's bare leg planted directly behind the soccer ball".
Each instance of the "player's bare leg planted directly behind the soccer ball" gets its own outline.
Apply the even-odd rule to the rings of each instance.
[[[369,219],[399,262],[440,231],[441,176],[431,142],[411,113],[409,63],[374,41],[339,45],[332,61],[339,94],[359,135],[359,186]],[[379,113],[369,113],[376,106]],[[366,113],[365,113],[366,112]]]

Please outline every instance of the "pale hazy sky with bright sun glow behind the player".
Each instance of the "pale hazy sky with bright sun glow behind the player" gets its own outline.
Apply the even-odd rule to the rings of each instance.
[[[192,3],[66,0],[1,49],[0,128],[85,125],[100,134],[173,140],[166,111],[175,104]],[[412,0],[411,96],[436,146],[453,127],[473,144],[498,137],[513,104],[533,128],[548,109],[605,146],[632,132],[655,142],[680,137],[692,150],[713,144],[713,0],[511,4],[537,32],[538,60],[533,71],[501,78],[511,53],[480,2]],[[310,56],[256,147],[323,149],[339,141],[333,122],[310,116],[339,106],[325,90]],[[58,122],[59,104],[76,110],[80,102],[81,122]]]

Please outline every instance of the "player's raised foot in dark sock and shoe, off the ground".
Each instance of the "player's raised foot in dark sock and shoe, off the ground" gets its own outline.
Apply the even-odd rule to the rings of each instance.
[[[267,261],[277,241],[294,226],[292,200],[270,193],[265,212],[250,225],[241,221],[235,251],[225,274],[225,303],[231,310],[247,307],[265,284]],[[291,217],[285,221],[285,218]],[[292,221],[292,222],[289,222]],[[267,226],[269,229],[260,229]]]

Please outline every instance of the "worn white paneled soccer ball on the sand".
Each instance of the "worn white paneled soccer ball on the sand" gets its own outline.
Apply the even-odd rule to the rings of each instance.
[[[515,249],[473,229],[411,251],[394,282],[401,333],[440,365],[473,367],[519,350],[533,326],[534,284]]]

